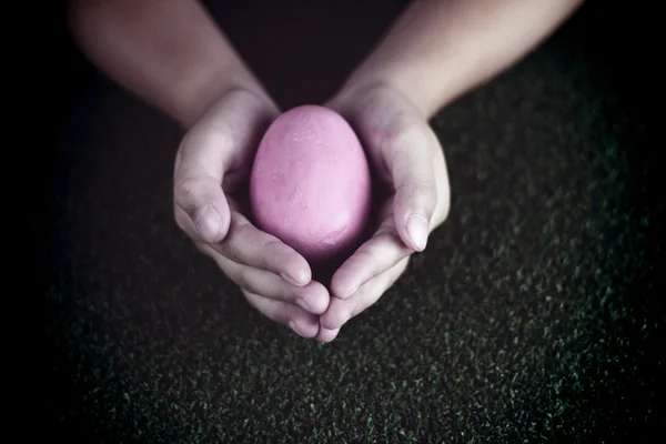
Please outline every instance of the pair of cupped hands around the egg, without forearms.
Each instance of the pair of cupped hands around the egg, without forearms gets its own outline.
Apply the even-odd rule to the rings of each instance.
[[[234,195],[246,183],[275,105],[249,90],[225,93],[181,142],[174,169],[178,225],[266,317],[303,337],[333,341],[342,325],[374,304],[404,272],[411,254],[446,219],[448,174],[427,119],[380,84],[341,92],[325,105],[357,134],[386,185],[379,228],[333,274],[330,292],[303,256],[256,229]]]

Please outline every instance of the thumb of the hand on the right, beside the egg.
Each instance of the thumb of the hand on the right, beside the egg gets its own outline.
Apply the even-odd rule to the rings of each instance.
[[[386,167],[395,188],[393,212],[402,241],[415,251],[427,244],[437,204],[435,155],[428,128],[410,127],[391,142]]]

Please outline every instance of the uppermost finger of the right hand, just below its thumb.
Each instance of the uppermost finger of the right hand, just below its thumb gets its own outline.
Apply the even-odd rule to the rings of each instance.
[[[375,234],[333,274],[333,295],[340,299],[351,296],[361,285],[386,272],[413,252],[403,243],[395,229],[393,214],[389,213]]]

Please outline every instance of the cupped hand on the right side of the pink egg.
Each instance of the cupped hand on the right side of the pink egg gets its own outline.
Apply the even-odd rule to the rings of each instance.
[[[386,84],[343,89],[326,105],[352,124],[389,196],[376,232],[333,274],[331,302],[315,337],[320,342],[333,341],[345,322],[393,285],[444,222],[451,201],[442,145],[427,118],[397,90]]]

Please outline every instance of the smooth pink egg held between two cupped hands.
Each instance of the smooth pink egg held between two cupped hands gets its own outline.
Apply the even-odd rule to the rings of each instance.
[[[256,225],[311,264],[350,254],[371,212],[371,173],[350,124],[336,112],[302,105],[264,134],[250,179]]]

